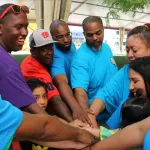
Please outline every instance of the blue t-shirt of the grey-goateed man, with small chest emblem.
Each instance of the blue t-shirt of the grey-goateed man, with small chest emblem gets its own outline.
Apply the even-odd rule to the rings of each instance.
[[[82,88],[87,92],[89,104],[98,89],[101,89],[117,72],[110,47],[103,43],[100,50],[91,49],[83,43],[73,56],[71,64],[72,88]]]

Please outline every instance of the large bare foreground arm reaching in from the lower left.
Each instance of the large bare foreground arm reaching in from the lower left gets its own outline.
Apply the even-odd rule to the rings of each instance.
[[[56,117],[24,112],[24,118],[15,133],[15,140],[64,141],[72,140],[86,144],[94,142],[88,132],[61,123]]]

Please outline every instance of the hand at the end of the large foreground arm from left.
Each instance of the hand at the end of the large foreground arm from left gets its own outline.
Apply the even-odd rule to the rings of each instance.
[[[77,137],[77,142],[82,142],[85,144],[93,144],[95,142],[95,137],[89,132],[79,129],[79,135]]]

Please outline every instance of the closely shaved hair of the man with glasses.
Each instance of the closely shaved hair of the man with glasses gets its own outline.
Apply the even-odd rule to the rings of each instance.
[[[54,21],[50,24],[50,27],[49,27],[51,35],[54,34],[54,29],[55,29],[55,28],[58,28],[59,26],[64,26],[64,25],[67,25],[67,23],[66,23],[65,21],[59,20],[59,19],[54,20]]]

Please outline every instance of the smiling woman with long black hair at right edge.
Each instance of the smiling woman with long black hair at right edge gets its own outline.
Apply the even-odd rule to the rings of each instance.
[[[150,57],[137,58],[130,63],[130,90],[136,95],[141,89],[141,96],[150,97]]]

